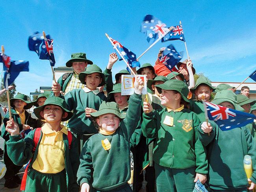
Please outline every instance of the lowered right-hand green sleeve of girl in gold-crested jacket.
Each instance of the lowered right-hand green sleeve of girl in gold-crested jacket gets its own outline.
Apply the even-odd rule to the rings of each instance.
[[[193,126],[195,129],[195,155],[196,155],[196,172],[199,174],[208,174],[208,160],[206,157],[206,149],[202,142],[198,139],[197,129],[199,129],[200,120],[195,113],[193,113]]]

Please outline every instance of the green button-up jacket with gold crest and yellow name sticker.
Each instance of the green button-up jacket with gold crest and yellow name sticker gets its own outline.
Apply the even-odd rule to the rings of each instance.
[[[173,117],[173,126],[163,124],[165,116]],[[197,167],[197,173],[207,174],[206,153],[196,132],[198,125],[197,115],[188,109],[168,112],[165,108],[153,113],[143,113],[143,135],[148,138],[156,137],[154,162],[168,168]]]

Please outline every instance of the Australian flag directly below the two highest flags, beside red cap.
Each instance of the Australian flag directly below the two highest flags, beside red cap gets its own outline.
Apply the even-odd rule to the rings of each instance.
[[[176,51],[174,46],[170,44],[165,48],[160,57],[158,57],[158,64],[165,65],[170,71],[182,59],[182,53]]]

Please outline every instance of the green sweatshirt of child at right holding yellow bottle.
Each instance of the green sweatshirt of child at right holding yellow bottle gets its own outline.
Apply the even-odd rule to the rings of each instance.
[[[208,183],[215,190],[238,190],[248,186],[247,176],[243,167],[245,155],[252,157],[252,177],[256,182],[256,144],[249,130],[237,127],[221,131],[219,126],[209,121],[213,127],[204,133],[198,128],[198,138],[207,147],[209,174]],[[201,124],[200,124],[201,125]],[[200,126],[199,125],[199,126]]]

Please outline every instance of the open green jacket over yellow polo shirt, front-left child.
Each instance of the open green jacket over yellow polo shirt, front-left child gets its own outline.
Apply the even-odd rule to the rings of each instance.
[[[43,133],[41,132],[41,137],[39,138],[39,142],[35,149],[35,153],[33,154],[32,149],[35,145],[33,141],[34,133],[35,133],[35,130],[30,131],[24,139],[19,138],[19,136],[17,135],[10,136],[10,140],[6,142],[7,153],[11,161],[14,162],[14,164],[24,165],[31,158],[33,158],[29,167],[29,168],[32,168],[32,164],[37,157],[39,145],[43,136]],[[71,192],[72,189],[74,190],[76,188],[78,190],[78,187],[79,187],[76,184],[76,173],[79,166],[78,145],[74,135],[72,135],[70,150],[69,150],[69,140],[67,138],[67,135],[65,134],[63,134],[63,141],[65,144],[64,148],[65,148],[65,169],[66,169],[67,191]],[[61,185],[61,183],[56,183],[56,185]],[[26,186],[26,187],[30,187],[30,186]]]

